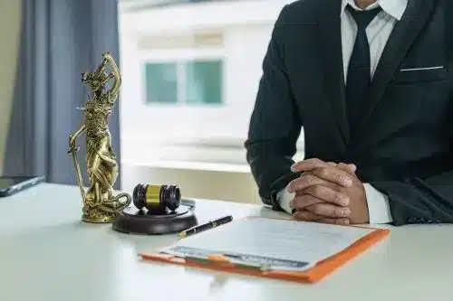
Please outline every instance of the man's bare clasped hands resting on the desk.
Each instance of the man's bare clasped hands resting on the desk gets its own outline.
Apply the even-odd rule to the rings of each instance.
[[[295,163],[292,171],[302,173],[286,187],[294,193],[290,207],[295,220],[342,225],[369,222],[365,188],[355,165],[307,159]]]

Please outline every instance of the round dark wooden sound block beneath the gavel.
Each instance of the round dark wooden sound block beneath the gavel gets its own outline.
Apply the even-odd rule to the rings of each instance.
[[[193,206],[181,202],[176,211],[159,214],[128,207],[115,218],[112,226],[113,230],[128,234],[159,235],[187,230],[197,224]]]

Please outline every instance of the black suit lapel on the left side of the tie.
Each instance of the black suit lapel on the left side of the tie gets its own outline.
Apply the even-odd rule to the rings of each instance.
[[[321,1],[321,0],[318,0]],[[341,1],[324,0],[319,5],[319,42],[323,61],[325,89],[333,107],[344,146],[349,140],[349,124],[344,102],[344,73],[342,64]]]

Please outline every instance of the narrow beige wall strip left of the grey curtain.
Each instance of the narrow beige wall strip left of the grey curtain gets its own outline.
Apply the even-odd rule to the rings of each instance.
[[[21,1],[0,1],[0,154],[5,152],[19,55]],[[4,156],[0,155],[0,174]]]

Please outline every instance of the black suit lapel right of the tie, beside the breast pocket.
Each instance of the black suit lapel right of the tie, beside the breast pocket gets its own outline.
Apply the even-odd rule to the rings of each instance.
[[[362,108],[361,118],[352,131],[353,133],[357,133],[357,135],[352,136],[352,145],[354,147],[359,146],[363,141],[367,140],[366,136],[372,137],[373,124],[370,122],[370,119],[371,117],[377,118],[372,116],[372,113],[381,101],[390,80],[395,72],[398,71],[400,62],[404,59],[405,54],[410,50],[412,43],[426,24],[431,10],[432,1],[411,0],[400,22],[395,25],[374,73],[371,82],[370,97],[366,100]]]

